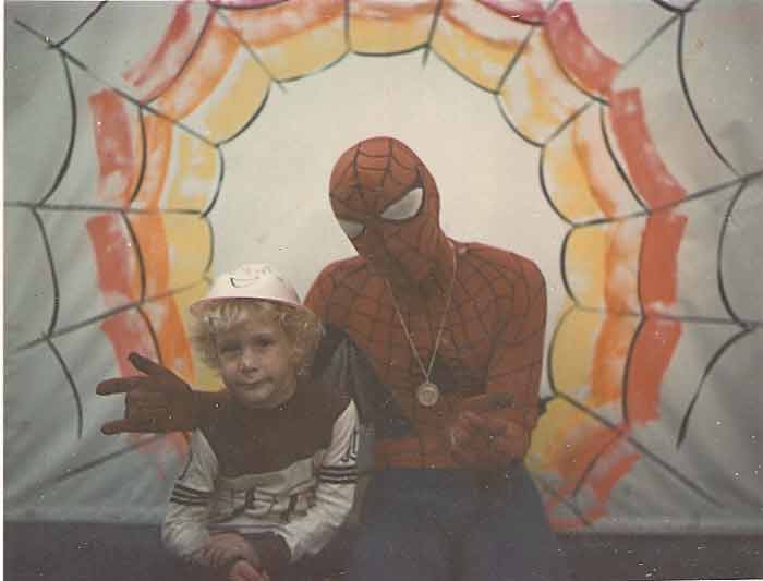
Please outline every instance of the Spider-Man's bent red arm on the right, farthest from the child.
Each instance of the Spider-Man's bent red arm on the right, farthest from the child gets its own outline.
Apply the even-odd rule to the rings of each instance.
[[[538,414],[546,326],[546,286],[530,261],[513,292],[513,312],[494,344],[486,394],[464,401],[452,428],[453,458],[497,469],[521,459]]]

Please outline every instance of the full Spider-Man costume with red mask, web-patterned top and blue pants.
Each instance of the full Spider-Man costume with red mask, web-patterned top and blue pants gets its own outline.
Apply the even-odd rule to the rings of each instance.
[[[376,472],[350,579],[564,579],[522,464],[538,414],[541,271],[446,237],[432,174],[391,137],[348,149],[329,191],[359,256],[328,265],[305,304],[346,331],[380,379],[354,386],[375,428]],[[434,397],[421,397],[424,383]],[[192,424],[209,412],[210,399],[191,413],[187,390],[167,392],[169,401],[154,395],[147,404]],[[143,417],[138,407],[128,401],[128,415]]]

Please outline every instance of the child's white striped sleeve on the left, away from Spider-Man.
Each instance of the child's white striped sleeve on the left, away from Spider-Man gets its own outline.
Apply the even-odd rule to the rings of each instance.
[[[211,500],[217,458],[199,429],[191,436],[187,464],[178,476],[161,526],[161,540],[174,555],[198,561],[195,555],[209,538],[207,516]]]

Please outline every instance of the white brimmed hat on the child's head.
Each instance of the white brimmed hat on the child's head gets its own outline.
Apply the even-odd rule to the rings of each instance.
[[[190,311],[201,315],[204,307],[231,299],[272,301],[305,308],[291,282],[269,264],[244,264],[218,276],[206,298],[193,303]]]

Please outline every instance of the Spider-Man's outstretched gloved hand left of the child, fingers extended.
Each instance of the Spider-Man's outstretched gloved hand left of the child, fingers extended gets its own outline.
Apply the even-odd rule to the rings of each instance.
[[[128,358],[145,375],[106,379],[96,394],[125,394],[124,419],[105,423],[104,434],[187,432],[198,426],[196,395],[167,367],[137,353]]]

